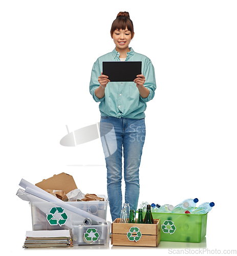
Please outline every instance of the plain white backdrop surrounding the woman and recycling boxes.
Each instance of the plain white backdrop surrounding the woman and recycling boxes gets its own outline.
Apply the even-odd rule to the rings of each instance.
[[[22,248],[32,225],[28,203],[15,196],[21,178],[35,184],[65,172],[83,193],[107,193],[100,140],[77,147],[59,141],[66,125],[71,132],[100,119],[89,93],[91,69],[115,47],[110,29],[119,11],[130,13],[130,46],[152,60],[157,82],[145,112],[139,205],[213,201],[204,247],[236,249],[236,6],[208,0],[1,1],[1,244],[7,253],[54,253]],[[170,247],[200,245],[161,242],[156,253],[168,254]],[[122,252],[111,249],[102,252]]]

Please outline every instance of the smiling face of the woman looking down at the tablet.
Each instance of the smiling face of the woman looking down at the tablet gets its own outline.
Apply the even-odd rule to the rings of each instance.
[[[132,40],[132,33],[131,31],[127,30],[118,30],[116,29],[113,33],[113,39],[116,47],[118,49],[126,49],[128,48],[128,45],[130,44],[130,41]]]

